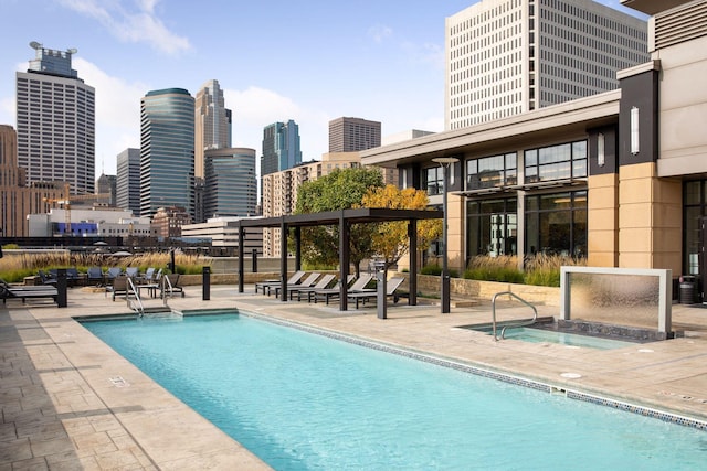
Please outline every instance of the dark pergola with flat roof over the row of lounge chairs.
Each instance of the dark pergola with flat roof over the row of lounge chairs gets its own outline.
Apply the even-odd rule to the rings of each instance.
[[[229,223],[229,227],[239,229],[239,292],[243,292],[243,245],[245,231],[249,227],[279,227],[281,261],[279,261],[279,299],[287,301],[287,234],[291,228],[295,232],[295,270],[302,268],[302,227],[307,226],[339,226],[339,279],[346,280],[350,266],[350,236],[352,224],[384,223],[391,221],[408,221],[408,237],[410,237],[410,297],[408,303],[418,304],[418,221],[441,220],[443,212],[439,210],[389,210],[380,207],[361,207],[356,210],[328,211],[324,213],[295,214],[278,217],[263,217],[240,220]],[[348,310],[348,287],[340,283],[339,309]]]

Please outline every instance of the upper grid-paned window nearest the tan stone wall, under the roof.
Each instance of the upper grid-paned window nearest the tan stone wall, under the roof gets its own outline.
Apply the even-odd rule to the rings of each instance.
[[[526,183],[587,176],[587,141],[529,149],[526,157]]]

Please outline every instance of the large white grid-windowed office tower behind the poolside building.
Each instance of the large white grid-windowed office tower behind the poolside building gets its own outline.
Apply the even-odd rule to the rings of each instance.
[[[619,87],[647,23],[591,0],[482,0],[445,24],[445,129]]]

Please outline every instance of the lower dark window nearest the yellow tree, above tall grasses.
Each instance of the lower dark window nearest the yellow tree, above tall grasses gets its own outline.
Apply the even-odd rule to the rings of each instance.
[[[477,200],[466,204],[467,256],[517,254],[518,201]]]

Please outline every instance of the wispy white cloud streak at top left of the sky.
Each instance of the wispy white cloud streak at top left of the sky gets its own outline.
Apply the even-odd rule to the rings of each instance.
[[[148,43],[154,49],[176,55],[191,49],[189,40],[169,31],[157,18],[158,0],[141,0],[134,3],[138,10],[128,11],[122,1],[59,0],[60,3],[81,14],[98,21],[123,42]]]

